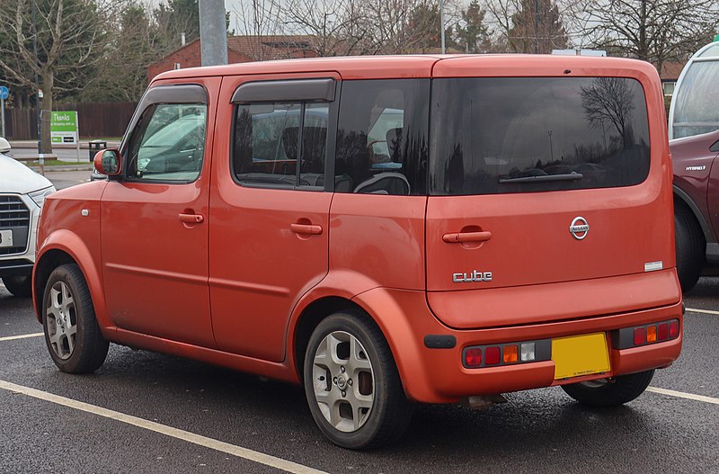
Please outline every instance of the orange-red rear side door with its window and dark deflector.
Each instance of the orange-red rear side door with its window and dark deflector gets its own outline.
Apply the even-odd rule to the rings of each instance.
[[[325,159],[333,72],[226,77],[210,196],[209,285],[219,349],[280,362],[297,300],[327,273]]]

